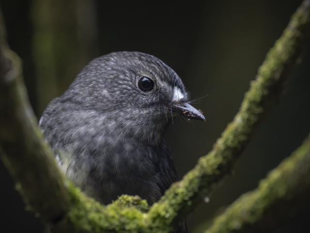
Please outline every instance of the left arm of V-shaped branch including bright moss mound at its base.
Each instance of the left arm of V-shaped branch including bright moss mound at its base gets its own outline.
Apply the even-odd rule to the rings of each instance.
[[[61,174],[38,128],[21,73],[0,15],[0,158],[27,207],[53,232],[146,231],[145,200],[123,195],[104,207]]]

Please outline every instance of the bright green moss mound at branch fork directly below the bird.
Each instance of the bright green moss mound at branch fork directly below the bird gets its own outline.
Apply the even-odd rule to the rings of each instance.
[[[67,183],[71,195],[71,208],[68,214],[55,226],[53,232],[77,233],[92,232],[150,232],[146,200],[128,195],[121,196],[113,203],[103,206],[84,195],[70,182]],[[67,228],[71,226],[71,228]]]

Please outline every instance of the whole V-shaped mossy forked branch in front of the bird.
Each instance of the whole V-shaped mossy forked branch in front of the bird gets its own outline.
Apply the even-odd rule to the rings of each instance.
[[[301,52],[309,15],[310,0],[305,0],[268,53],[238,114],[213,150],[182,181],[173,184],[148,212],[144,200],[126,195],[102,206],[62,176],[37,127],[22,82],[20,61],[5,45],[1,20],[1,159],[16,179],[26,203],[52,225],[53,232],[170,232],[230,172],[258,122],[278,99]]]

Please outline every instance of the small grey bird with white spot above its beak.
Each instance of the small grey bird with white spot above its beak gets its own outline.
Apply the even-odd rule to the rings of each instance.
[[[175,115],[204,120],[179,76],[158,58],[113,52],[87,65],[39,125],[62,171],[104,204],[122,194],[151,205],[177,174],[163,140]],[[187,232],[185,222],[178,232]]]

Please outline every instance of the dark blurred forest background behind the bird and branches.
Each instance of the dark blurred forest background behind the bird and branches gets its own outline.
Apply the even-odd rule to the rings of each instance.
[[[160,58],[181,77],[206,122],[176,121],[166,138],[182,177],[211,150],[238,111],[266,52],[301,0],[101,1],[1,0],[11,48],[22,58],[36,116],[97,56],[142,51]],[[233,174],[188,216],[191,232],[290,155],[310,132],[310,48],[294,69],[285,95],[260,125]],[[43,232],[25,211],[0,164],[0,229]],[[310,232],[309,205],[279,233]]]

